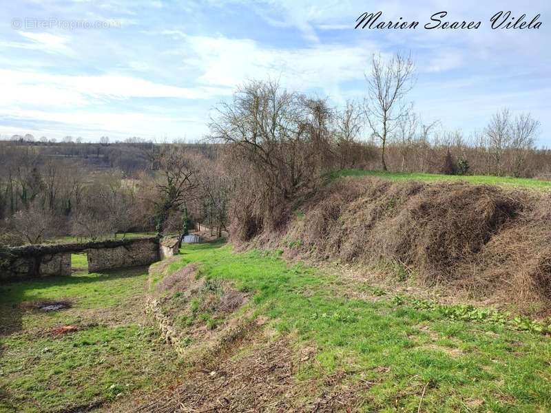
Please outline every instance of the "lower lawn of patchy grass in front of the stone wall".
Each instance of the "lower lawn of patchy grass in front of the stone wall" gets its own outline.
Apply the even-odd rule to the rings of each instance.
[[[84,255],[74,264],[84,265]],[[174,378],[176,353],[143,315],[146,281],[141,268],[1,285],[0,412],[123,401]],[[72,308],[42,313],[19,307],[62,297]],[[79,331],[52,332],[63,325]]]

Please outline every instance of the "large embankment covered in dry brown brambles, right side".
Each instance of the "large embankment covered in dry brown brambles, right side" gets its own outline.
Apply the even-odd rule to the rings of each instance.
[[[261,233],[253,244],[321,260],[391,264],[415,284],[468,291],[523,313],[551,308],[548,193],[341,179],[299,205],[282,233]]]

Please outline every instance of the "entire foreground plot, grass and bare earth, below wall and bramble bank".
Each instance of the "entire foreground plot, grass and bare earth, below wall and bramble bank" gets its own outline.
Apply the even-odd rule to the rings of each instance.
[[[183,279],[194,288],[178,291]],[[179,349],[143,311],[156,286],[179,316],[169,317]],[[0,293],[2,412],[551,408],[547,335],[289,263],[281,251],[190,244],[149,276],[81,272]],[[228,295],[238,304],[222,311]],[[39,307],[58,301],[67,307]],[[227,334],[237,326],[247,328]]]

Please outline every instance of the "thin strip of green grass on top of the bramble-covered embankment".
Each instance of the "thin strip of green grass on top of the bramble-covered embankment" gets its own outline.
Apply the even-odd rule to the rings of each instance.
[[[377,176],[396,181],[417,180],[420,182],[437,181],[465,181],[472,184],[498,185],[502,187],[517,187],[528,189],[539,189],[551,191],[551,181],[537,180],[530,178],[512,178],[510,176],[482,176],[482,175],[439,175],[437,173],[409,173],[409,172],[384,172],[384,171],[364,171],[361,169],[343,169],[331,173],[331,178],[342,178],[346,176]]]

